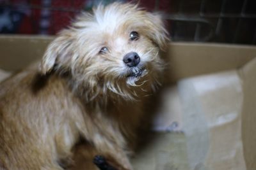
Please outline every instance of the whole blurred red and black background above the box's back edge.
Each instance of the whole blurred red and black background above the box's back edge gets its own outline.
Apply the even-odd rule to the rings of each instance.
[[[113,1],[0,0],[0,33],[54,35],[100,2]],[[140,0],[140,6],[164,13],[173,41],[256,45],[256,0]]]

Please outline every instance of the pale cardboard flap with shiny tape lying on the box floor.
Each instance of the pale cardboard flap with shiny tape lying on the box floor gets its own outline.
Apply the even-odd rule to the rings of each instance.
[[[246,169],[241,139],[243,89],[237,71],[178,83],[189,169]]]

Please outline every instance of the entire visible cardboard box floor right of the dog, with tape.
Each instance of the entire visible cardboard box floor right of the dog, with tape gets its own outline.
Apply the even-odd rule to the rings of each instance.
[[[243,82],[237,70],[186,78],[161,95],[155,124],[161,132],[133,160],[136,170],[246,169],[241,136]],[[178,129],[170,129],[172,122]],[[184,134],[175,136],[173,132],[180,129]]]

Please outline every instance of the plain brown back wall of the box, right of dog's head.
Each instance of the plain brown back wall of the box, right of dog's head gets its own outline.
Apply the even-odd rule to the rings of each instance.
[[[255,46],[211,43],[171,43],[169,74],[173,81],[189,76],[227,71],[256,57]]]

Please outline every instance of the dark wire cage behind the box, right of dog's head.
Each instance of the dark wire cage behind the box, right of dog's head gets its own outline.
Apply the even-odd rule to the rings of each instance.
[[[173,41],[256,44],[255,0],[171,1]],[[176,7],[175,7],[176,6]]]

